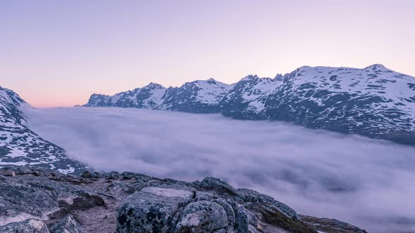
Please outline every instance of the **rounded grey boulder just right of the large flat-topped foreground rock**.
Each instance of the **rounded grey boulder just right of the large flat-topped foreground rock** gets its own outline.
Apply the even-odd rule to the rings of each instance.
[[[222,206],[210,201],[197,201],[181,211],[177,233],[215,232],[228,225],[228,216]]]

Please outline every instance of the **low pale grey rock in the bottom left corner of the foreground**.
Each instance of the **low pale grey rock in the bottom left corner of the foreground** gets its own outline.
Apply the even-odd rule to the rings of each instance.
[[[49,233],[48,227],[41,220],[29,219],[22,222],[11,222],[0,226],[1,233]]]

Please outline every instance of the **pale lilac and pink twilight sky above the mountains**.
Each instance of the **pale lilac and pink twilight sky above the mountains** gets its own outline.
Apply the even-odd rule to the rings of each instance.
[[[303,65],[415,76],[415,1],[0,1],[0,85],[35,107]]]

